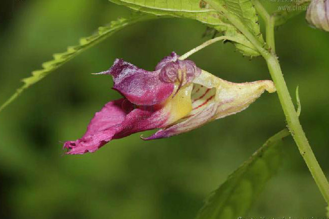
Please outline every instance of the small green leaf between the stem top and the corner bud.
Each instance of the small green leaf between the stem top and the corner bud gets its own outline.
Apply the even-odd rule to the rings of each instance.
[[[305,12],[310,2],[310,0],[291,1],[289,4],[278,6],[279,10],[272,14],[275,17],[275,26],[283,25],[294,16]]]

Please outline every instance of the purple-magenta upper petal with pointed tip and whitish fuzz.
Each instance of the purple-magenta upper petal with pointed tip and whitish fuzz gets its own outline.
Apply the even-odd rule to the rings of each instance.
[[[174,83],[159,80],[159,71],[148,72],[116,59],[105,74],[113,76],[113,89],[136,105],[154,105],[166,100],[174,91]]]

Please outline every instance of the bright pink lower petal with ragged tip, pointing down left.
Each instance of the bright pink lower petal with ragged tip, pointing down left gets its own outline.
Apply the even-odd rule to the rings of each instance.
[[[86,133],[76,141],[67,141],[64,148],[67,154],[94,152],[112,139],[154,128],[165,127],[168,115],[162,109],[153,107],[132,109],[126,99],[107,103],[90,121]]]

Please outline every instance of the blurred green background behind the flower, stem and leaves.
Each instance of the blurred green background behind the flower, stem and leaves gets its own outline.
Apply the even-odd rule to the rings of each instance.
[[[2,2],[0,102],[53,53],[129,14],[106,0]],[[115,58],[152,70],[170,52],[183,54],[208,40],[202,38],[205,30],[180,19],[133,25],[65,64],[5,109],[0,114],[0,218],[193,218],[208,194],[284,127],[275,93],[263,94],[237,115],[169,139],[142,141],[137,133],[83,156],[63,155],[61,142],[82,136],[94,112],[120,97],[110,89],[110,78],[90,73],[108,69]],[[286,82],[293,97],[299,85],[300,120],[327,175],[328,36],[309,28],[304,13],[276,32]],[[191,59],[229,81],[270,79],[261,58],[250,61],[234,51],[229,43],[217,43]],[[324,215],[324,207],[297,147],[286,138],[282,167],[249,216],[315,217]]]

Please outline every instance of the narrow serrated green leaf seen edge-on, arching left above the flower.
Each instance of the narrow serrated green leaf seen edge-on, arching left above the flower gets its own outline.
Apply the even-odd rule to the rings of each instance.
[[[53,60],[42,64],[43,69],[33,71],[32,76],[23,79],[24,85],[19,89],[17,89],[17,91],[0,107],[0,111],[2,111],[6,106],[8,106],[11,102],[13,102],[24,90],[29,88],[31,85],[37,83],[45,76],[47,76],[50,72],[56,70],[64,63],[68,62],[69,60],[71,60],[78,54],[82,53],[86,49],[100,43],[101,41],[103,41],[104,39],[106,39],[107,37],[111,36],[113,33],[121,30],[124,27],[127,27],[131,24],[140,21],[145,21],[155,18],[156,18],[155,16],[149,16],[145,14],[135,14],[128,19],[120,18],[117,21],[112,21],[106,27],[98,28],[98,31],[94,35],[90,37],[81,38],[79,41],[79,45],[68,47],[67,51],[64,53],[54,54]]]

